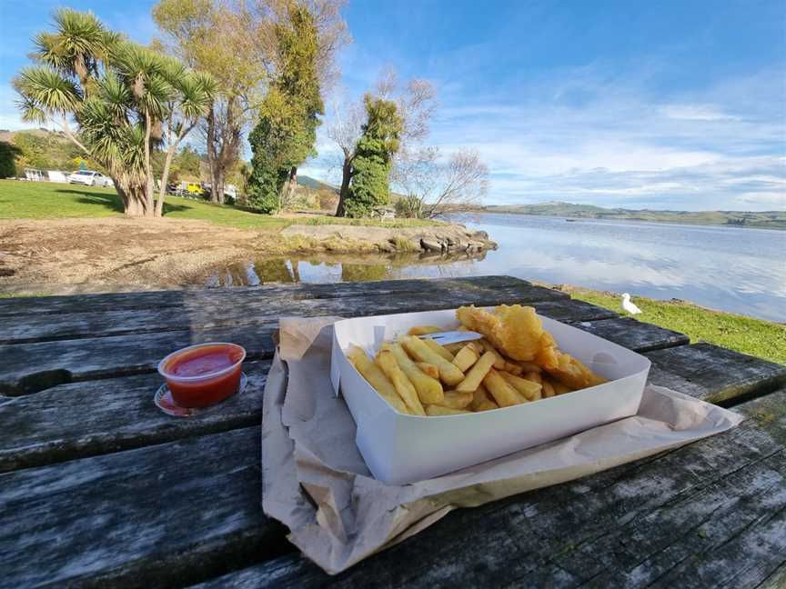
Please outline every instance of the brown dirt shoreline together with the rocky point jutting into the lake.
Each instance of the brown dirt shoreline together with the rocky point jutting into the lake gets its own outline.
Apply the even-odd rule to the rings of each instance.
[[[199,284],[219,266],[265,255],[412,251],[420,247],[418,235],[440,238],[431,228],[302,227],[259,231],[179,219],[2,220],[0,293],[174,288]],[[433,229],[452,241],[461,233],[454,235],[452,227]]]

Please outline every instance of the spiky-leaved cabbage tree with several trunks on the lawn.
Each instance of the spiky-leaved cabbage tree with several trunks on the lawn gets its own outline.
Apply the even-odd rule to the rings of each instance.
[[[151,151],[184,85],[209,97],[207,77],[130,43],[90,13],[55,12],[55,31],[35,37],[33,57],[14,85],[27,121],[52,122],[115,181],[126,215],[161,214],[153,195]],[[207,101],[205,96],[200,102]],[[70,121],[76,122],[76,129]]]

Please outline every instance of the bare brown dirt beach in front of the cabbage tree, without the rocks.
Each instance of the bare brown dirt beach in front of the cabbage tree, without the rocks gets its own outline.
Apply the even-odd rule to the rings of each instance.
[[[275,234],[170,219],[0,222],[0,288],[180,285],[264,248]],[[106,288],[105,288],[106,290]]]

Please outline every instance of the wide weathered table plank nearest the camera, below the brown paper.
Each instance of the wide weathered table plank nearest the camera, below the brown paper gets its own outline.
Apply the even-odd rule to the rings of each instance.
[[[731,432],[453,512],[335,577],[287,554],[199,586],[756,587],[786,554],[786,390],[739,409]]]

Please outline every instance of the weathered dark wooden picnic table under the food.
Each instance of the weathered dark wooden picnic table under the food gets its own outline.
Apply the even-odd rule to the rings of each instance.
[[[263,514],[262,389],[284,315],[532,304],[650,357],[650,381],[748,419],[680,449],[448,514],[330,577]],[[156,364],[247,348],[190,419]],[[0,301],[0,586],[762,587],[786,584],[786,366],[505,276]]]

